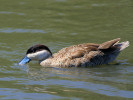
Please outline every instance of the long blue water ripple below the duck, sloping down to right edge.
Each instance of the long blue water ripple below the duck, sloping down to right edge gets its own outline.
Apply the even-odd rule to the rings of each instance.
[[[127,91],[127,90],[120,90],[118,88],[115,88],[113,86],[104,85],[104,84],[94,84],[91,82],[82,82],[77,81],[75,85],[75,82],[69,81],[69,80],[47,80],[47,81],[28,81],[26,85],[62,85],[67,88],[81,88],[89,91],[93,91],[95,93],[107,95],[107,96],[119,96],[124,98],[133,98],[133,91]],[[68,84],[69,83],[69,84]],[[25,84],[25,83],[18,83],[18,84]]]

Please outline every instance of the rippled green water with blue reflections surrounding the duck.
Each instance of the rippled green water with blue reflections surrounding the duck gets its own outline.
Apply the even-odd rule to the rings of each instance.
[[[1,0],[0,100],[132,100],[133,1]],[[94,68],[17,63],[34,44],[57,52],[74,44],[129,40],[115,62]]]

